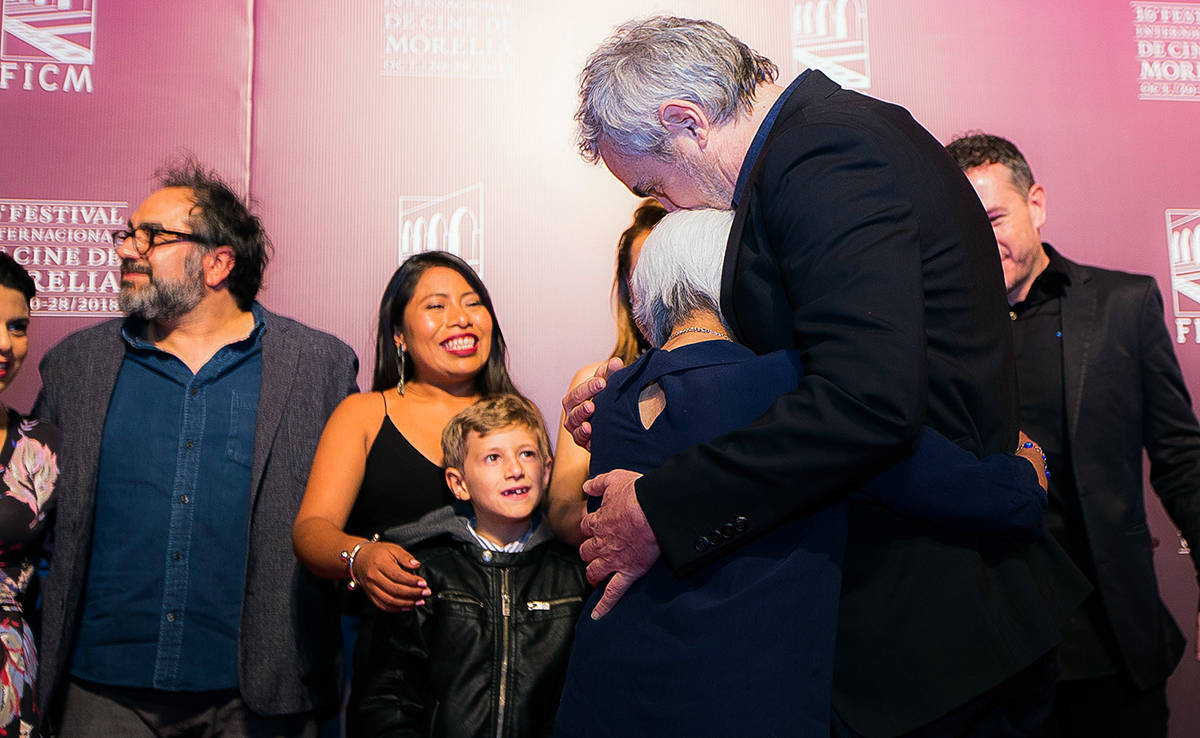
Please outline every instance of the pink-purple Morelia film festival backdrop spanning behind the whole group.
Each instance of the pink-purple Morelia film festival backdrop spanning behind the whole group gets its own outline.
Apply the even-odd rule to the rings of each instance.
[[[258,202],[262,300],[331,331],[368,383],[379,294],[448,248],[492,290],[518,385],[551,420],[607,355],[618,234],[636,199],[580,160],[576,76],[616,24],[703,17],[770,56],[898,102],[943,142],[1016,143],[1068,257],[1154,276],[1200,392],[1200,2],[1124,0],[2,0],[0,248],[40,286],[29,365],[116,314],[108,232],[182,152]],[[1157,500],[1157,564],[1195,637],[1195,576]],[[1189,647],[1194,650],[1194,643]],[[1200,733],[1200,668],[1170,684]]]

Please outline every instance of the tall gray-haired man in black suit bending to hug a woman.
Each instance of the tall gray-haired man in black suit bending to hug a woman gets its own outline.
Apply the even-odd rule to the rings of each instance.
[[[596,616],[660,556],[688,576],[846,499],[923,424],[977,455],[1016,445],[1002,275],[970,185],[904,109],[776,76],[719,25],[667,17],[620,26],[581,76],[584,158],[668,210],[732,208],[722,312],[755,352],[805,365],[750,426],[588,482],[604,503],[581,552],[593,582],[613,575]],[[600,374],[564,398],[581,444]],[[1028,563],[1045,553],[853,504],[835,731],[1033,734],[1058,640]],[[1048,569],[1081,596],[1076,572]]]

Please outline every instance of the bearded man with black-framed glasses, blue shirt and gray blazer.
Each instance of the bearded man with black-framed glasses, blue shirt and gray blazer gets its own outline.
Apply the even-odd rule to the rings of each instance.
[[[127,317],[41,365],[68,430],[38,703],[65,738],[314,736],[340,631],[289,534],[356,361],[256,302],[269,240],[215,174],[161,184],[113,234]]]

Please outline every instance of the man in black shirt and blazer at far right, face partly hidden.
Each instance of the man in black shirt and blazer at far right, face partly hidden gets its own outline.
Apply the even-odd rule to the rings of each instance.
[[[1042,242],[1046,193],[1010,142],[973,134],[947,150],[996,233],[1021,428],[1052,472],[1045,529],[1094,587],[1064,626],[1051,734],[1166,736],[1183,638],[1154,581],[1141,451],[1171,520],[1200,540],[1200,427],[1162,296],[1151,277],[1082,266]]]

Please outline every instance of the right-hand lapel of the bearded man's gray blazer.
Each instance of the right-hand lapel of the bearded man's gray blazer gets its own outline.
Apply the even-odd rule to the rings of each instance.
[[[254,509],[263,472],[271,455],[271,446],[283,420],[288,396],[300,360],[300,347],[290,340],[290,326],[274,313],[263,311],[266,330],[263,331],[263,374],[258,388],[258,414],[254,419],[254,461],[251,466],[250,509]]]

